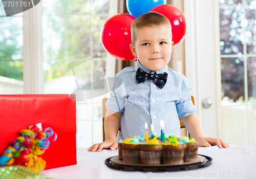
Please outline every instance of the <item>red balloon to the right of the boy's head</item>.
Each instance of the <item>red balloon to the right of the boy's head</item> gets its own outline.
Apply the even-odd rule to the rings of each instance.
[[[174,48],[184,39],[186,33],[186,19],[178,8],[172,5],[159,5],[150,11],[158,12],[167,17],[172,25]]]

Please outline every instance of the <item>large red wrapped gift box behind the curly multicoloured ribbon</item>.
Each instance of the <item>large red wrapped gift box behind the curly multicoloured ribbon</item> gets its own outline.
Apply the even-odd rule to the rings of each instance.
[[[0,156],[21,130],[37,123],[58,136],[40,155],[46,169],[76,164],[75,95],[0,95]]]

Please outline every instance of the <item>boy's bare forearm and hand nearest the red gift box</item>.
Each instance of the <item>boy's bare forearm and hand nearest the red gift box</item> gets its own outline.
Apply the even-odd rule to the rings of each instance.
[[[111,150],[115,150],[118,147],[116,137],[120,125],[121,115],[122,113],[115,113],[112,110],[106,111],[106,116],[104,120],[105,141],[98,144],[93,144],[91,147],[88,148],[88,151],[101,151],[103,148],[110,148]]]

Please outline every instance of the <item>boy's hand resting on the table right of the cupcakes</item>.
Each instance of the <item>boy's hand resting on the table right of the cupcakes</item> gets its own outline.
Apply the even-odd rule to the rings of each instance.
[[[196,140],[199,146],[210,147],[212,145],[218,145],[219,148],[228,148],[229,145],[221,139],[215,138],[200,138]]]

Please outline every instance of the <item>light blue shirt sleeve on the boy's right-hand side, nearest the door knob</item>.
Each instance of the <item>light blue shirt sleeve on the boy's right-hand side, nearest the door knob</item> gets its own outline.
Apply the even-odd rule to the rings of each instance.
[[[176,108],[179,117],[185,117],[196,113],[197,107],[193,104],[191,100],[192,87],[188,80],[184,77],[182,83],[182,99],[177,101]]]

